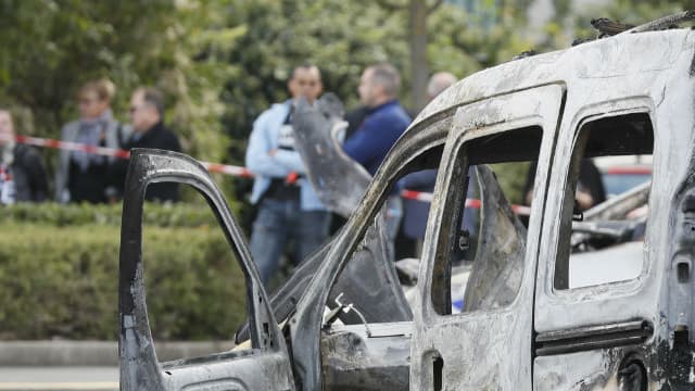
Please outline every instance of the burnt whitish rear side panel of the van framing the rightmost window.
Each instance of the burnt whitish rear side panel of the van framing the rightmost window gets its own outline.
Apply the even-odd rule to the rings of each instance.
[[[655,90],[659,90],[657,88]],[[661,92],[659,92],[661,93]],[[655,121],[656,108],[650,97],[609,99],[595,102],[568,113],[558,141],[556,164],[551,173],[548,199],[542,247],[546,251],[539,260],[535,301],[535,358],[534,383],[536,389],[568,389],[570,387],[602,387],[621,381],[619,374],[642,378],[646,387],[647,373],[655,368],[650,360],[654,351],[654,331],[659,326],[660,256],[658,245],[645,245],[642,272],[635,278],[601,285],[558,289],[556,285],[557,260],[568,252],[561,243],[560,232],[568,227],[568,176],[574,159],[578,138],[585,124],[630,114],[646,114],[654,129],[654,173],[649,194],[649,226],[646,242],[659,243],[658,231],[667,231],[660,211],[668,210],[668,192],[654,193],[661,185],[659,174],[659,137]],[[661,159],[662,161],[664,159]],[[666,188],[664,188],[666,189]],[[658,200],[658,201],[656,201]],[[656,201],[656,202],[655,202]],[[653,203],[655,202],[655,203]],[[655,207],[656,206],[656,207]],[[660,227],[660,228],[658,228]],[[567,239],[567,238],[566,238]],[[566,266],[561,266],[566,267]],[[565,270],[566,272],[566,270]],[[596,270],[601,273],[601,270]],[[571,369],[570,369],[571,368]],[[626,369],[628,368],[628,369]],[[627,370],[627,371],[626,371]],[[632,373],[631,373],[632,371]],[[648,377],[654,376],[649,374]],[[572,386],[573,384],[573,386]]]

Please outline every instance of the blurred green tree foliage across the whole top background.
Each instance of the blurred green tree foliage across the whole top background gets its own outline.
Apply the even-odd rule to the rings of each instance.
[[[85,80],[116,83],[115,114],[123,121],[130,92],[153,85],[165,92],[167,121],[187,153],[243,164],[253,119],[288,98],[293,65],[317,64],[325,89],[352,108],[363,68],[388,61],[402,73],[402,101],[410,102],[412,1],[0,0],[0,104],[15,109],[20,131],[58,137],[76,116],[75,91]],[[525,31],[532,2],[425,1],[431,11],[426,68],[465,77],[526,50],[594,36],[594,17],[639,24],[695,7],[692,0],[619,0],[578,13],[577,2],[554,0],[545,38],[531,42]],[[50,166],[53,156],[47,156]],[[233,190],[242,182],[224,184]]]

